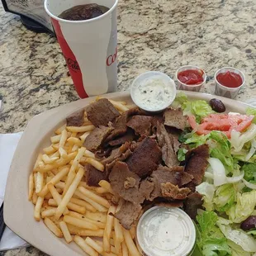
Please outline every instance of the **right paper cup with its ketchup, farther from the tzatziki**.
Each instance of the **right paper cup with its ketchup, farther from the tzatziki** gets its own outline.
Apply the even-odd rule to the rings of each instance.
[[[235,98],[244,86],[245,76],[239,69],[225,67],[216,72],[215,81],[216,95]]]

